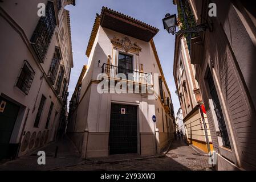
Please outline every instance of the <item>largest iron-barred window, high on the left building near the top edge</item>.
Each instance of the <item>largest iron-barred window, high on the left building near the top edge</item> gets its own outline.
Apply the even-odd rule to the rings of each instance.
[[[51,42],[54,28],[56,26],[55,11],[53,2],[48,1],[46,5],[46,16],[41,16],[35,31],[30,39],[32,48],[40,63],[44,62],[48,47]]]

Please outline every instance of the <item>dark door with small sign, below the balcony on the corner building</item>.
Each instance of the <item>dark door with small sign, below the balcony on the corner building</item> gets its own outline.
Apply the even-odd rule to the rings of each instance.
[[[132,153],[137,153],[137,106],[111,104],[109,154]]]

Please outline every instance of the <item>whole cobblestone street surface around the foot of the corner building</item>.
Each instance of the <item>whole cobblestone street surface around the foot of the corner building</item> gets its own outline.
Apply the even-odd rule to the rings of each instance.
[[[54,158],[55,147],[59,147],[58,156]],[[115,156],[108,159],[86,160],[79,157],[78,151],[69,139],[63,139],[41,148],[46,152],[46,165],[38,165],[36,152],[0,165],[0,170],[64,170],[64,171],[118,171],[118,170],[205,170],[208,156],[201,155],[185,144],[184,141],[174,140],[166,155],[140,156],[127,155],[125,161],[116,160]],[[143,159],[144,158],[144,159]],[[120,157],[119,157],[120,159]]]

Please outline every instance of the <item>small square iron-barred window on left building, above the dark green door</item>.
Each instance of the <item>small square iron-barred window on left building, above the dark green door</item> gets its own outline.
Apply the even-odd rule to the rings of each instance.
[[[23,67],[21,69],[21,73],[18,77],[17,86],[19,89],[22,90],[26,95],[29,94],[29,90],[34,79],[35,72],[30,66],[28,61],[24,61]]]

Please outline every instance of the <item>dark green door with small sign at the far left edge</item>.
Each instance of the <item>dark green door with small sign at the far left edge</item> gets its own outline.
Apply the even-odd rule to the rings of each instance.
[[[2,104],[2,105],[1,105]],[[4,107],[5,104],[5,107]],[[19,112],[19,106],[0,97],[0,160],[9,156],[9,142]],[[4,109],[3,109],[4,107]]]

